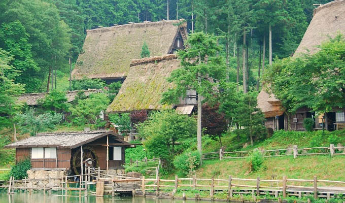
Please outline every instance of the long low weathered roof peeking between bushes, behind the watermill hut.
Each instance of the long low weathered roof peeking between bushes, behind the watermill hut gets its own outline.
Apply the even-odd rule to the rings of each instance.
[[[88,96],[91,93],[97,93],[101,92],[102,90],[100,89],[88,89],[88,90],[76,90],[76,91],[67,91],[66,92],[66,97],[68,102],[74,101],[77,93],[79,91],[84,91],[85,95]],[[18,98],[18,100],[23,101],[29,106],[34,106],[38,105],[39,99],[43,99],[48,93],[43,92],[43,93],[28,93],[28,94],[21,94]]]

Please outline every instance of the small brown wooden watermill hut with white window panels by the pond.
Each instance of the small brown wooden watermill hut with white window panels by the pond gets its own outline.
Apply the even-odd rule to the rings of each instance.
[[[34,169],[67,169],[80,174],[85,160],[101,170],[123,169],[125,148],[134,146],[113,131],[97,130],[37,134],[5,147],[16,148],[16,162],[29,158]]]

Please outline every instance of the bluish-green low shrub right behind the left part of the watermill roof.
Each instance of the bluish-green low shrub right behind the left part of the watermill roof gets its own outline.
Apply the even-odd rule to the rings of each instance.
[[[34,136],[38,132],[54,129],[55,125],[61,122],[62,116],[62,113],[54,112],[35,115],[33,109],[29,109],[24,114],[18,114],[17,119],[21,132],[29,132]]]

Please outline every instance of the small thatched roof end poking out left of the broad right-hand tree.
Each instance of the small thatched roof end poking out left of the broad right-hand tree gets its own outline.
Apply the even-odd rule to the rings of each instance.
[[[268,94],[264,90],[261,90],[258,97],[258,108],[261,109],[265,118],[281,116],[284,114],[284,110],[281,107],[280,100],[275,98],[273,94]]]

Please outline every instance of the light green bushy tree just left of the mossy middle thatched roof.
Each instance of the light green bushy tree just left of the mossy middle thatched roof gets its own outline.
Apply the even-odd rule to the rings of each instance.
[[[101,111],[107,109],[109,98],[105,93],[90,94],[89,98],[79,100],[78,105],[71,107],[73,122],[76,124],[96,124],[105,126],[105,122],[99,119]]]

